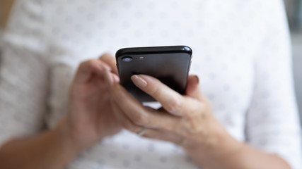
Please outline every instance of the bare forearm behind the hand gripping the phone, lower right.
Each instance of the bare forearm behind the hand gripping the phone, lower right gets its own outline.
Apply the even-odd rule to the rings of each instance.
[[[279,156],[267,154],[248,144],[238,142],[226,132],[216,138],[216,141],[211,142],[211,146],[188,149],[187,153],[207,169],[290,169],[289,164]]]

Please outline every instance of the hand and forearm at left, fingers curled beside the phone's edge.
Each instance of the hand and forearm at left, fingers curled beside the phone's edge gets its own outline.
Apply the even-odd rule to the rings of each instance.
[[[104,73],[118,80],[109,54],[79,65],[69,92],[68,115],[52,130],[14,138],[0,149],[0,168],[65,168],[81,151],[122,129],[110,105]]]

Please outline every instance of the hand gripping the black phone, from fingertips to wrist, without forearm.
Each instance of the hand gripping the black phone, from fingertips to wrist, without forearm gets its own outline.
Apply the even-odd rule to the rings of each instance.
[[[185,95],[175,92],[154,77],[133,75],[134,84],[161,103],[163,108],[158,110],[143,106],[119,83],[110,82],[110,78],[107,80],[111,86],[111,104],[117,120],[135,133],[141,133],[146,127],[142,137],[178,144],[193,158],[196,154],[199,160],[209,154],[219,155],[221,152],[215,146],[221,144],[224,137],[230,137],[214,118],[196,75],[188,77]]]

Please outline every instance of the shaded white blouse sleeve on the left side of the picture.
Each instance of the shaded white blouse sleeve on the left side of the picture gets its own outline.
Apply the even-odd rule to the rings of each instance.
[[[47,60],[39,0],[16,1],[4,31],[0,66],[0,146],[43,127]]]

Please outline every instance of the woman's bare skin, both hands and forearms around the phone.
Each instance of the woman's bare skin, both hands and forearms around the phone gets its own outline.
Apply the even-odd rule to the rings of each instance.
[[[6,142],[0,149],[0,168],[62,169],[122,127],[138,133],[143,126],[143,137],[182,146],[204,168],[290,168],[278,156],[231,137],[214,117],[196,75],[188,78],[184,96],[153,77],[135,75],[132,80],[163,108],[144,107],[134,99],[119,84],[109,54],[81,63],[70,87],[68,115],[52,130]]]

